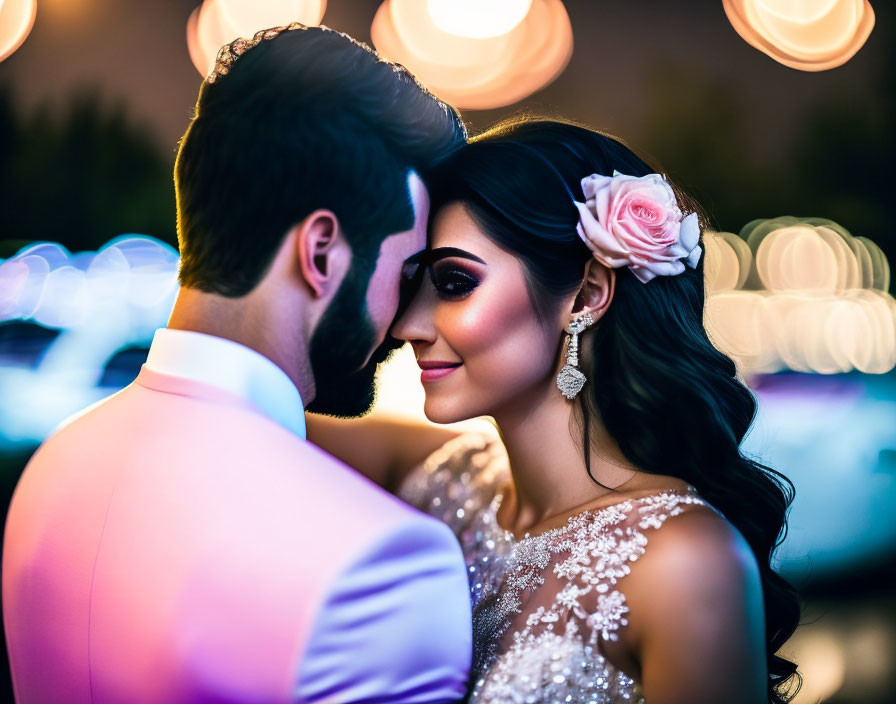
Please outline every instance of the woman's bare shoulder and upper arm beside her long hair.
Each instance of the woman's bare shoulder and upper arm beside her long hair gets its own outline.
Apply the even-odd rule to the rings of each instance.
[[[759,566],[744,537],[706,505],[688,506],[645,537],[622,586],[645,693],[679,701],[677,690],[730,694],[740,683],[736,701],[759,701],[765,614]]]

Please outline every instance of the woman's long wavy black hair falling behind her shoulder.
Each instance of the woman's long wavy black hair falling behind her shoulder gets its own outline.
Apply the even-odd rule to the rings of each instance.
[[[576,233],[581,180],[593,173],[644,176],[658,170],[619,140],[574,124],[516,118],[454,153],[431,179],[433,212],[461,202],[483,230],[519,257],[533,306],[557,301],[583,283],[591,253]],[[682,210],[696,204],[676,189]],[[703,258],[678,276],[641,283],[616,269],[612,303],[586,333],[581,363],[592,380],[579,395],[586,467],[588,418],[599,414],[636,467],[696,487],[740,531],[759,564],[765,597],[768,700],[786,702],[798,687],[796,665],[777,655],[799,622],[794,588],[770,560],[786,533],[793,485],[741,454],[756,400],[703,325]],[[547,316],[545,316],[547,317]],[[646,429],[646,430],[645,430]],[[674,452],[670,452],[674,448]]]

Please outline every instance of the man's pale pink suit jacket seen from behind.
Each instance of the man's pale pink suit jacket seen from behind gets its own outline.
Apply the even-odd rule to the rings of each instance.
[[[446,526],[145,367],[23,473],[3,618],[20,704],[451,701],[471,659]]]

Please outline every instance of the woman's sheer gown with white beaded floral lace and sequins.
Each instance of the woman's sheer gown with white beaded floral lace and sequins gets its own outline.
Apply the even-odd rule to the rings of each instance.
[[[601,641],[627,624],[619,581],[670,516],[706,504],[666,492],[584,511],[517,540],[495,515],[510,479],[500,443],[447,443],[400,496],[454,530],[473,601],[471,704],[641,702],[638,684],[605,659]]]

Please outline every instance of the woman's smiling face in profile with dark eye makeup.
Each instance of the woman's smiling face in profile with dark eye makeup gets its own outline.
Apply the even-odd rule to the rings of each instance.
[[[414,348],[427,417],[453,423],[500,416],[558,393],[554,376],[568,313],[538,319],[522,263],[461,203],[436,214],[431,234],[429,271],[392,329]]]

